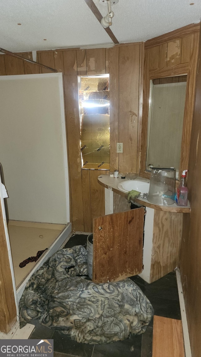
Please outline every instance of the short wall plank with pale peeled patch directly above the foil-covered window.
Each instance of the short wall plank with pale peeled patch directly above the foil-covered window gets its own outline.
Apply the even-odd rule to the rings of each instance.
[[[86,50],[87,75],[105,74],[105,48]]]

